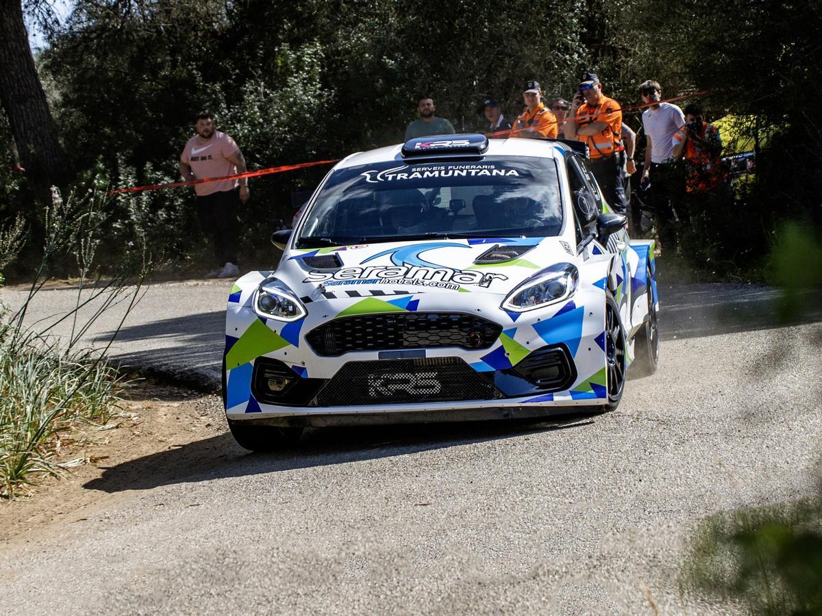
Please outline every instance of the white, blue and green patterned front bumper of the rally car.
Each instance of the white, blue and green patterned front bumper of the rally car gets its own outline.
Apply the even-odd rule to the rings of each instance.
[[[358,423],[403,421],[404,416],[416,417],[413,421],[455,421],[448,417],[504,418],[512,414],[522,416],[523,413],[539,416],[547,412],[544,411],[547,407],[556,407],[556,412],[561,413],[567,412],[568,407],[602,406],[607,403],[604,279],[599,283],[602,286],[592,284],[581,288],[571,301],[561,305],[519,314],[500,310],[500,297],[472,294],[471,302],[464,306],[468,310],[463,311],[473,310],[474,314],[500,326],[498,338],[490,347],[470,350],[432,347],[388,352],[387,355],[386,352],[354,351],[342,352],[339,356],[318,356],[306,338],[330,320],[350,315],[351,301],[315,301],[305,319],[284,324],[257,317],[250,306],[251,293],[243,290],[229,299],[224,379],[226,414],[231,420],[277,421],[281,422],[279,425],[291,425],[286,419],[293,418],[302,425],[328,425],[324,422],[338,421],[343,416],[357,419]],[[401,302],[388,300],[386,303],[420,314],[454,312],[456,295],[419,293],[406,296]],[[370,309],[375,302],[381,301],[372,298],[367,307]],[[372,310],[372,313],[378,312]],[[567,378],[540,384],[538,379],[524,377],[524,372],[534,370],[533,365],[526,369],[529,362],[539,368],[539,354],[557,348],[565,353]],[[403,368],[397,370],[398,379],[395,380],[342,379],[336,383],[334,396],[323,394],[326,386],[334,383],[338,375],[345,374],[354,363],[386,365],[386,362],[410,359],[434,363],[457,360],[464,366],[464,379],[459,378],[459,373],[451,375],[454,378],[450,380],[435,376],[440,384],[434,393],[459,388],[462,380],[473,385],[467,393],[451,397],[431,395],[403,399],[395,395],[372,394],[369,398],[363,393],[370,387],[376,388],[377,394],[380,391],[392,394],[404,389],[410,392],[409,388],[425,387],[424,383],[404,384],[403,377],[409,369]],[[291,380],[298,381],[296,388],[289,389],[295,395],[289,393],[280,398],[264,395],[256,379],[260,366],[266,361],[276,362]],[[276,375],[273,378],[276,379]],[[477,382],[489,384],[490,388],[477,393]],[[351,396],[345,396],[349,383],[353,392]],[[422,391],[414,389],[415,393]],[[429,415],[436,419],[428,420]],[[284,421],[286,423],[282,423]]]

